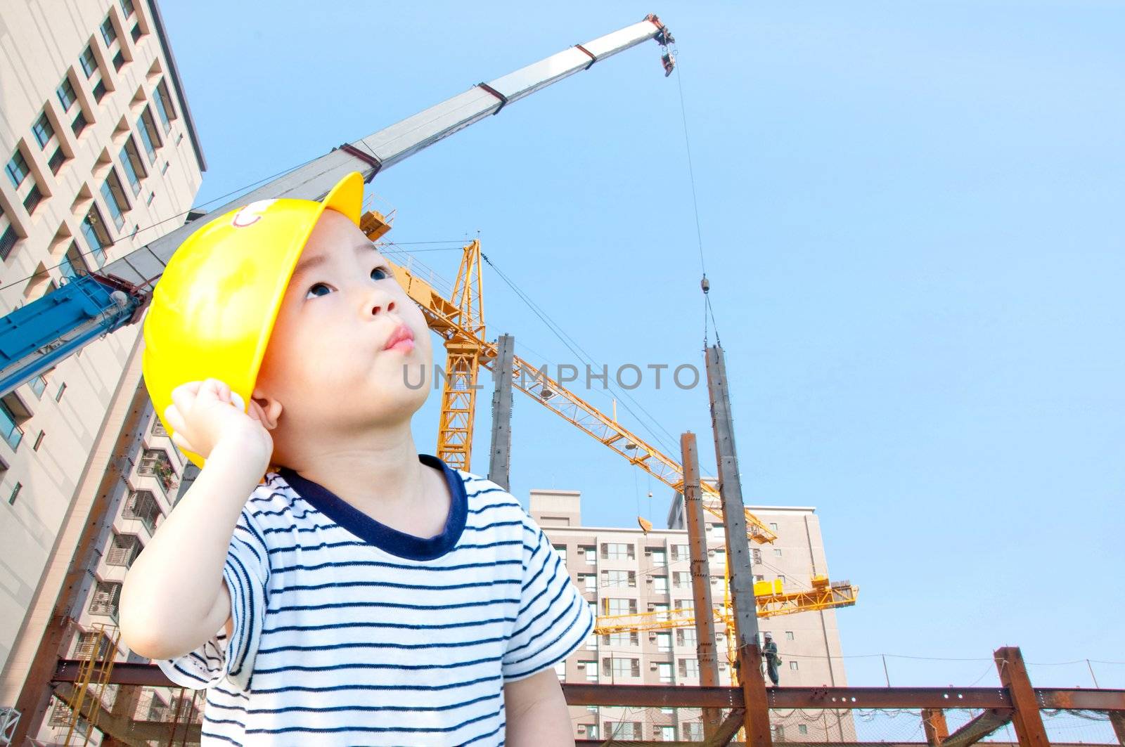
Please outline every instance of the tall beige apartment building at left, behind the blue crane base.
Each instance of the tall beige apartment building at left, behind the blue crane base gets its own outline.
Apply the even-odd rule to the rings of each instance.
[[[10,0],[0,50],[6,314],[182,224],[206,163],[155,2]],[[122,468],[140,378],[135,325],[0,398],[0,708],[24,688],[66,572],[89,562],[74,552],[106,470],[126,475],[124,497],[93,518],[112,537],[69,613],[75,646],[112,620],[120,564],[168,508],[180,462],[166,439],[148,432]]]

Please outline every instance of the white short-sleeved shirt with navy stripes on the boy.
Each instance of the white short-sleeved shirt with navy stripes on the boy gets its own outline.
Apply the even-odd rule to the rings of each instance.
[[[516,500],[418,459],[451,496],[430,539],[288,470],[254,490],[224,567],[230,638],[159,663],[207,688],[205,746],[502,745],[504,683],[591,633],[588,604]]]

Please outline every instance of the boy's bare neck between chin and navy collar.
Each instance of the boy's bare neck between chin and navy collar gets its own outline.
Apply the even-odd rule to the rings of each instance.
[[[431,537],[444,526],[444,478],[418,461],[410,421],[363,438],[308,446],[291,466],[305,479],[399,531]]]

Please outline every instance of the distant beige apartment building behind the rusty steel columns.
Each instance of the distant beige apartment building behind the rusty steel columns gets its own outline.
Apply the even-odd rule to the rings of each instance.
[[[583,526],[576,490],[532,490],[530,513],[562,556],[570,577],[598,616],[692,609],[691,565],[683,501],[673,501],[672,529]],[[820,521],[812,507],[753,506],[777,534],[773,544],[752,548],[757,580],[781,579],[786,590],[809,588],[828,574]],[[723,601],[726,538],[706,514],[706,544],[713,602]],[[846,611],[844,612],[846,614]],[[836,612],[803,612],[759,620],[773,633],[782,658],[781,686],[846,684]],[[723,634],[717,637],[719,676],[732,684]],[[564,682],[631,685],[699,685],[694,627],[593,634],[557,667]],[[577,739],[702,740],[698,709],[572,706]],[[774,741],[855,739],[849,716],[816,718],[774,713]]]

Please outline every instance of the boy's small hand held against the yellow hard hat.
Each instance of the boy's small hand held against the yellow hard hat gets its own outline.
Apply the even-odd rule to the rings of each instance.
[[[242,397],[223,381],[190,381],[172,389],[172,403],[164,421],[172,426],[172,442],[207,459],[222,442],[246,449],[246,456],[261,459],[262,468],[273,453],[273,439],[262,425],[260,413],[251,403],[243,412]]]

